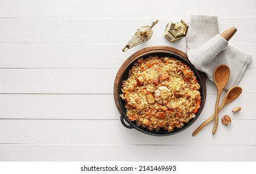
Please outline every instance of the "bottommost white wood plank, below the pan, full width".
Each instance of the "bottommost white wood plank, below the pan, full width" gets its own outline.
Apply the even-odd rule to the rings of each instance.
[[[255,161],[253,145],[0,145],[0,161]],[[225,154],[225,155],[224,155]]]

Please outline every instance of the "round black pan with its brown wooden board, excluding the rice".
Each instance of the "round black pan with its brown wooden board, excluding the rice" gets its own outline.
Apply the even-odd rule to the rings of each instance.
[[[121,99],[120,94],[122,94],[121,86],[122,81],[126,80],[129,76],[129,70],[134,66],[134,63],[137,62],[139,58],[147,58],[150,56],[159,56],[159,57],[172,57],[177,60],[180,60],[181,62],[185,63],[186,65],[189,65],[190,69],[194,71],[195,76],[197,77],[197,81],[199,82],[200,88],[200,94],[201,94],[201,105],[200,109],[195,114],[194,119],[190,119],[189,122],[185,123],[182,128],[174,128],[174,131],[168,132],[164,129],[160,129],[159,132],[156,131],[149,131],[147,128],[137,126],[137,124],[133,121],[130,121],[126,116],[126,102]],[[121,68],[119,68],[119,71],[117,72],[116,79],[114,82],[114,99],[116,102],[116,106],[118,111],[121,114],[121,122],[122,124],[129,128],[129,129],[137,129],[137,131],[143,132],[144,134],[149,135],[157,135],[157,136],[165,136],[165,135],[173,135],[177,134],[178,132],[184,131],[187,127],[189,127],[200,115],[202,112],[202,109],[204,108],[205,104],[205,98],[206,98],[206,85],[205,80],[207,79],[206,75],[200,71],[198,71],[195,66],[193,66],[190,61],[187,59],[187,55],[184,52],[181,52],[180,50],[177,50],[172,47],[165,47],[165,46],[155,46],[155,47],[147,47],[143,48],[142,50],[139,50],[138,52],[135,52],[132,54],[127,60],[122,64]]]

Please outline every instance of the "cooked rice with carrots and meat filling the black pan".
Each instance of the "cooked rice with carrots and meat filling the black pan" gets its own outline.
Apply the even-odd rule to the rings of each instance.
[[[142,84],[138,77],[142,78]],[[154,80],[159,80],[159,84]],[[160,93],[160,98],[155,94],[159,86],[169,89],[165,96],[164,92]],[[130,121],[150,131],[162,128],[171,132],[174,127],[180,128],[195,117],[200,108],[199,89],[195,74],[188,65],[174,58],[154,56],[140,58],[132,66],[129,77],[123,81],[121,98],[126,101],[126,114]],[[150,102],[148,95],[157,97],[154,96]],[[162,99],[162,103],[159,104],[157,99]]]

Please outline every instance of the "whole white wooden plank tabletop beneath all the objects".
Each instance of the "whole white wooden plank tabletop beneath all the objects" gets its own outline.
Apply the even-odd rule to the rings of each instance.
[[[114,103],[122,62],[135,51],[168,45],[185,52],[185,39],[163,32],[190,14],[234,25],[230,45],[253,58],[242,95],[220,112],[232,124],[192,132],[214,112],[216,89],[207,81],[199,119],[179,134],[155,137],[126,129]],[[152,38],[122,52],[140,25],[159,19]],[[0,1],[1,161],[256,161],[256,1]],[[222,98],[224,97],[222,94]],[[233,114],[231,109],[241,106]]]

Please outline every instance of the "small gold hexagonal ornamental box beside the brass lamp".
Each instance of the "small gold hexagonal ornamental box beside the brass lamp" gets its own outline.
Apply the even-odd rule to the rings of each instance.
[[[189,26],[185,23],[183,19],[176,19],[170,21],[165,27],[164,36],[170,41],[174,42],[182,39],[187,34],[187,29]]]

